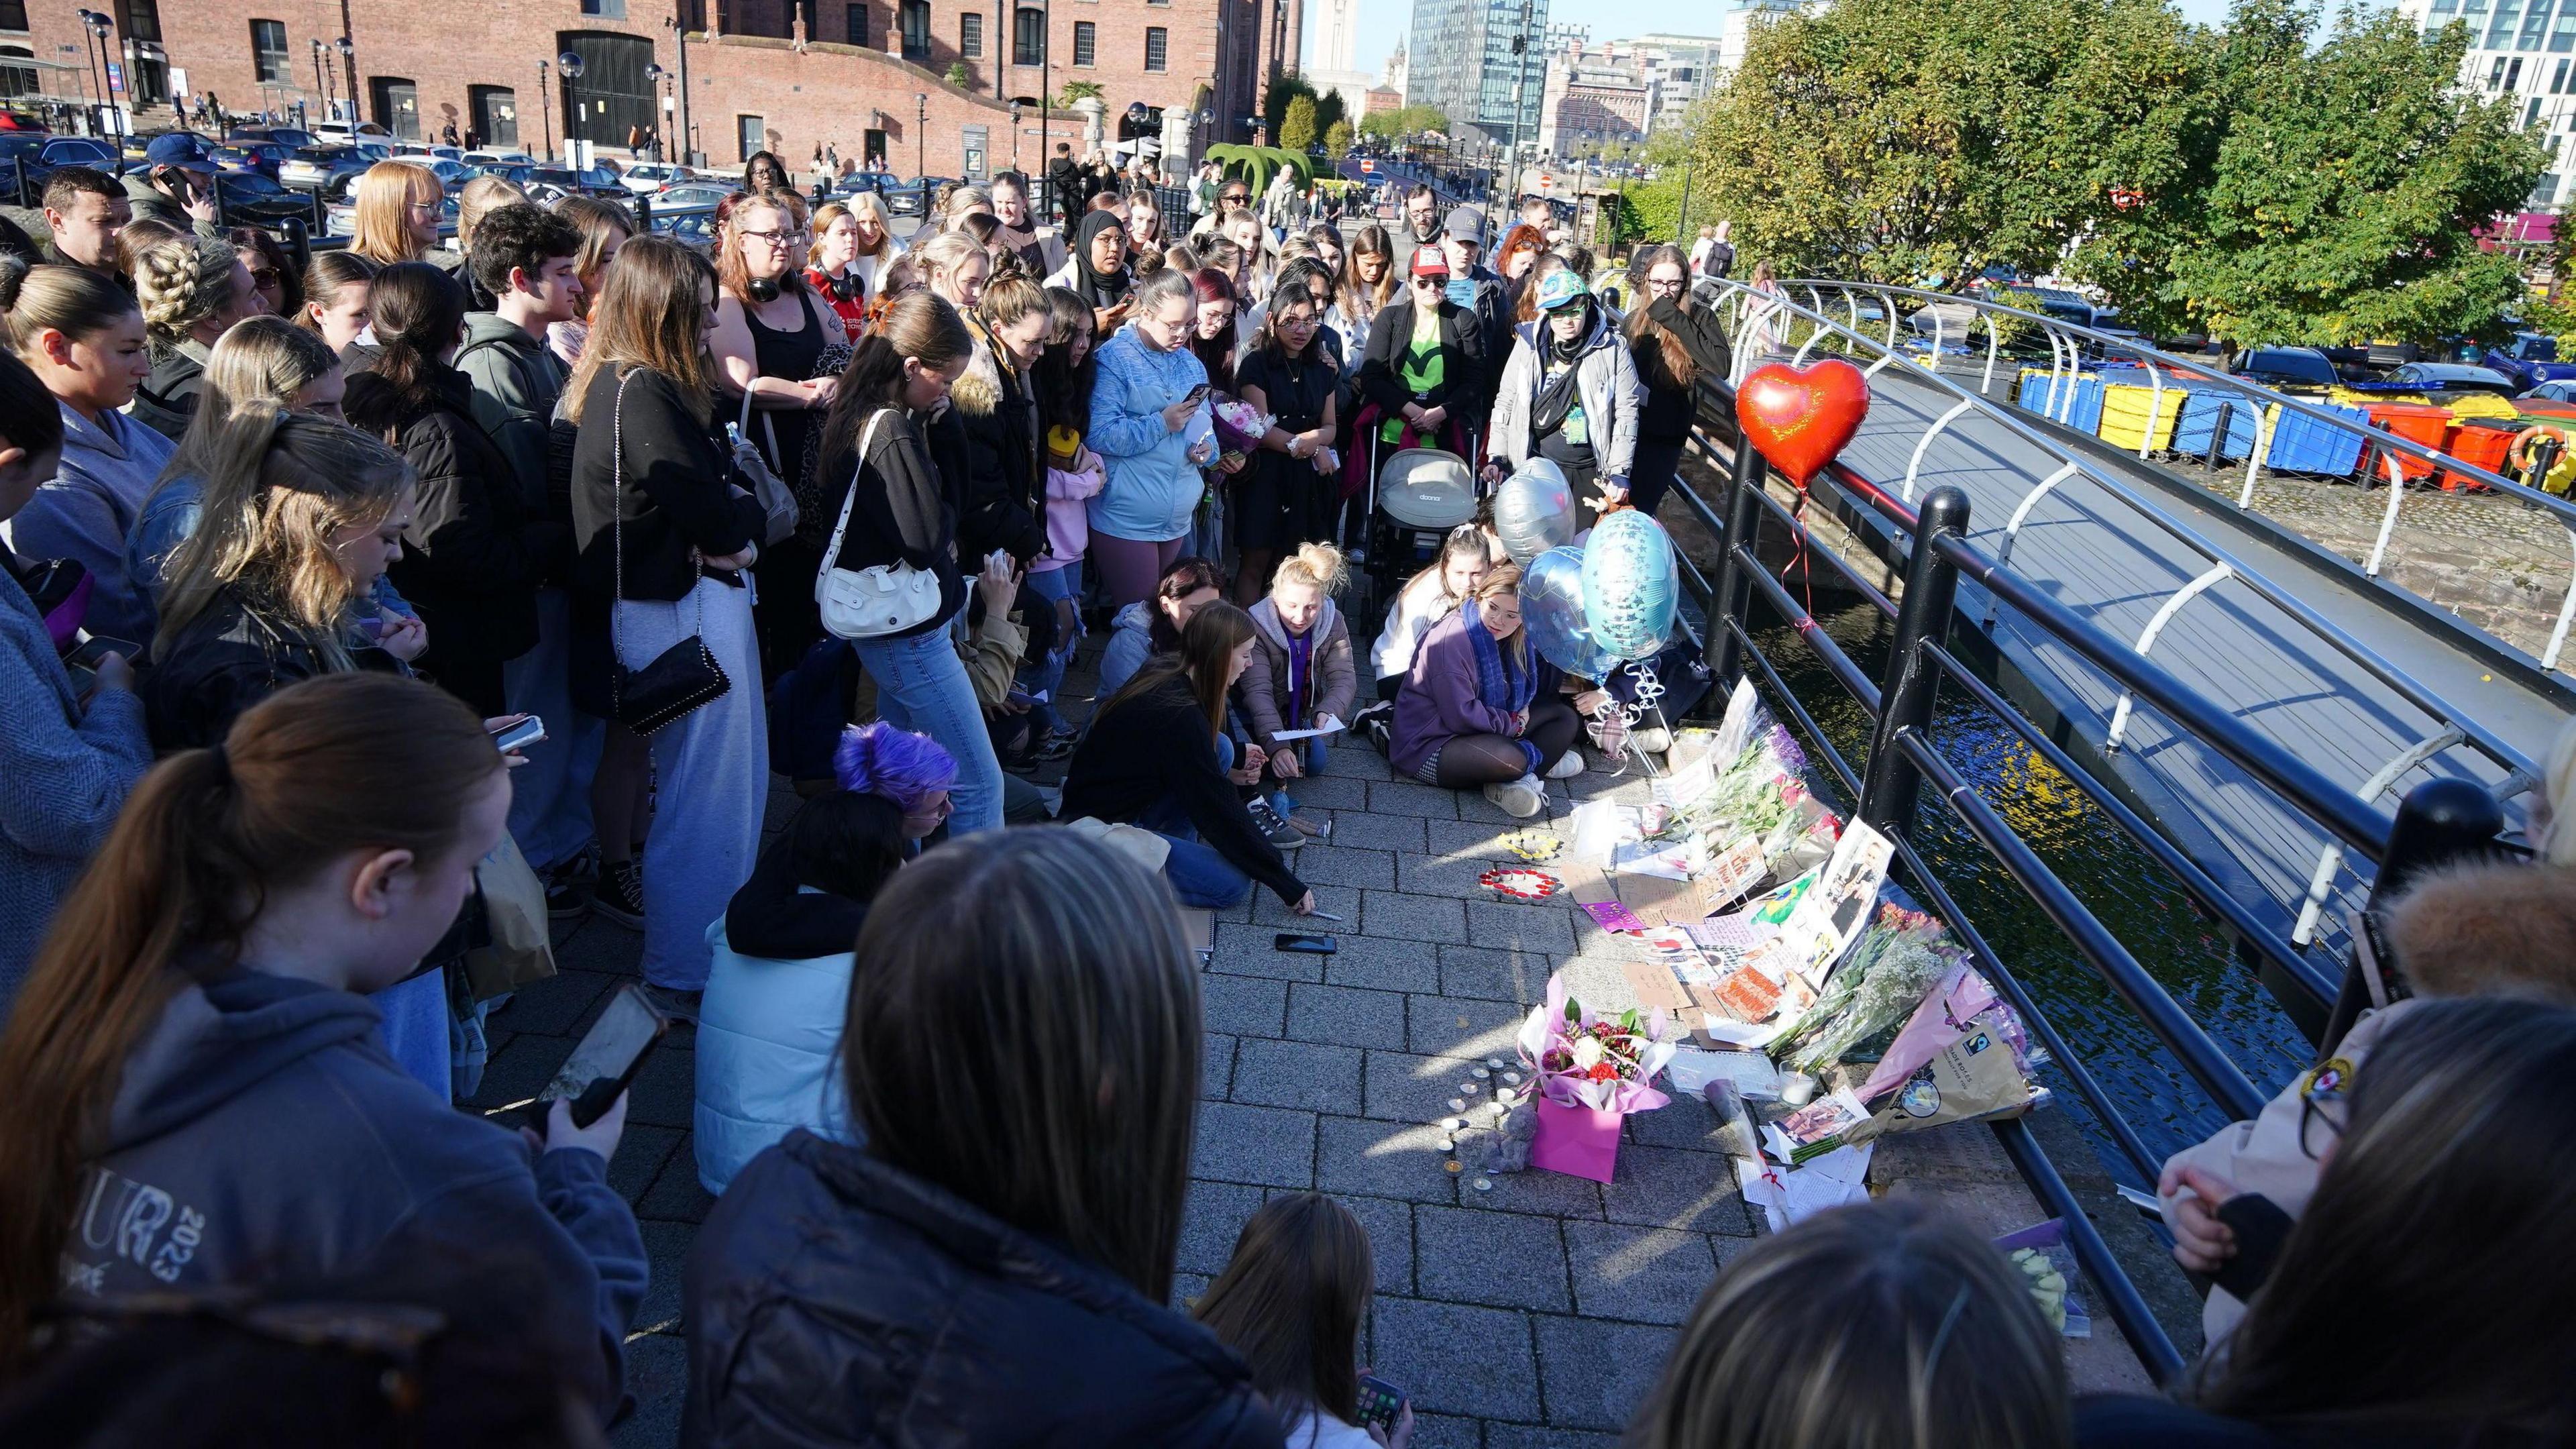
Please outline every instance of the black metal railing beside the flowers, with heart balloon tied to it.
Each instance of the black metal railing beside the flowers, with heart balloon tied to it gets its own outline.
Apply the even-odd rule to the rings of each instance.
[[[1734,415],[1731,384],[1713,382],[1708,400],[1718,402],[1723,415]],[[2048,1049],[2053,1067],[2102,1124],[2110,1145],[2128,1163],[2138,1183],[2156,1181],[2161,1158],[2117,1109],[2087,1062],[2066,1044],[2045,1006],[1978,931],[1976,920],[1958,905],[1947,884],[1917,848],[1924,784],[1932,786],[1929,799],[1950,812],[1958,828],[2002,866],[2017,892],[2066,936],[2087,967],[2128,1006],[2218,1109],[2239,1119],[2254,1116],[2264,1104],[2264,1093],[2092,908],[2056,877],[2038,851],[2014,833],[2012,822],[1978,794],[1965,773],[1937,750],[1932,719],[1942,686],[1965,691],[1976,704],[2012,727],[2161,864],[2184,895],[2236,928],[2262,959],[2262,980],[2311,1039],[2331,1047],[2342,1024],[2349,1024],[2354,993],[2349,982],[2336,982],[2257,920],[2244,902],[2233,900],[2208,871],[2154,830],[2117,792],[2094,781],[2043,727],[2012,709],[1991,683],[1981,681],[1950,652],[1947,637],[1958,614],[1960,575],[1973,578],[1996,593],[2002,606],[2014,608],[2035,629],[2107,670],[2148,709],[2156,709],[2179,730],[2236,761],[2339,846],[2380,861],[2380,887],[2385,890],[2393,890],[2393,882],[2411,877],[2434,859],[2478,848],[2501,830],[2496,802],[2463,781],[2427,781],[2391,817],[2375,804],[2357,799],[2349,789],[2324,779],[2306,761],[2195,694],[2146,655],[2130,650],[2128,642],[2063,608],[2045,588],[2017,578],[2002,559],[1973,547],[1968,541],[1968,495],[1958,487],[1937,487],[1922,500],[1922,508],[1911,508],[1850,467],[1837,464],[1819,480],[1847,505],[1880,516],[1896,534],[1911,541],[1904,559],[1904,590],[1899,601],[1891,601],[1883,590],[1868,585],[1832,547],[1816,539],[1798,513],[1783,508],[1770,495],[1770,469],[1759,451],[1741,443],[1721,446],[1705,428],[1692,431],[1692,446],[1723,477],[1718,505],[1703,500],[1687,477],[1674,480],[1672,490],[1718,539],[1713,570],[1703,570],[1692,559],[1685,559],[1682,570],[1685,585],[1708,608],[1708,657],[1716,678],[1734,678],[1741,665],[1765,681],[1770,701],[1811,743],[1811,758],[1821,761],[1850,797],[1857,799],[1857,817],[1888,835],[1904,874],[1922,890],[1932,910],[1958,931],[1958,938],[1976,957],[1978,969],[2022,1013],[2032,1039]],[[1857,585],[1870,608],[1893,621],[1893,647],[1878,681],[1870,681],[1868,670],[1762,565],[1759,536],[1765,526],[1788,529],[1801,547],[1801,557]],[[1777,663],[1772,663],[1757,639],[1752,627],[1752,601],[1757,596],[1793,627],[1793,637],[1814,652],[1837,686],[1870,719],[1868,753],[1860,768],[1834,748],[1816,724],[1814,712],[1795,696]],[[2460,794],[2468,794],[2465,804]],[[2434,817],[2437,822],[2427,825]],[[2045,1150],[2020,1119],[1994,1122],[1991,1129],[2030,1194],[2045,1212],[2063,1220],[2069,1248],[2099,1289],[2105,1310],[2138,1354],[2138,1361],[2159,1382],[2177,1379],[2184,1366],[2179,1348],[2164,1325],[2156,1323],[2128,1269],[2092,1225],[2084,1204],[2074,1196],[2074,1189],[2069,1189]]]

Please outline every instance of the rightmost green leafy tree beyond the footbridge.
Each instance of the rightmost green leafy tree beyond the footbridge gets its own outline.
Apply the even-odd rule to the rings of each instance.
[[[2481,232],[2548,168],[2514,98],[2458,85],[2465,26],[2419,36],[2293,0],[2239,0],[2210,85],[2210,165],[2148,191],[2074,268],[2123,315],[2244,343],[2501,335],[2522,263]],[[2192,147],[2202,150],[2202,147]]]

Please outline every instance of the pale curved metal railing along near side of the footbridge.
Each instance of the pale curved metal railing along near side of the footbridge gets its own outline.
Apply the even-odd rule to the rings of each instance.
[[[1785,325],[1785,322],[1803,322],[1806,330],[1808,330],[1806,340],[1798,345],[1798,351],[1793,356],[1793,364],[1803,364],[1819,345],[1824,345],[1826,340],[1834,340],[1834,343],[1842,345],[1842,351],[1852,351],[1857,356],[1875,356],[1875,361],[1870,361],[1870,366],[1865,369],[1865,374],[1870,374],[1870,376],[1880,374],[1883,369],[1888,369],[1888,366],[1893,366],[1899,361],[1906,361],[1911,366],[1909,353],[1896,340],[1899,309],[1896,309],[1893,299],[1883,299],[1883,297],[1873,294],[1873,302],[1880,302],[1878,312],[1886,317],[1886,338],[1873,338],[1873,335],[1860,333],[1857,327],[1852,327],[1847,322],[1837,322],[1832,315],[1826,315],[1819,307],[1801,307],[1788,294],[1777,294],[1777,291],[1775,294],[1759,294],[1759,291],[1752,291],[1747,284],[1736,284],[1736,281],[1716,281],[1713,286],[1716,286],[1716,294],[1718,294],[1718,307],[1728,312],[1728,317],[1731,317],[1731,333],[1739,340],[1736,366],[1734,366],[1734,376],[1728,382],[1741,382],[1741,376],[1754,364],[1754,353],[1765,351],[1759,345],[1741,345],[1741,343],[1747,343],[1747,340],[1752,340],[1752,343],[1770,340],[1770,338],[1765,338],[1765,333],[1770,327]],[[1798,284],[1790,284],[1790,286],[1808,291],[1808,297],[1816,299],[1819,304],[1821,304],[1821,289],[1826,289],[1826,286],[1844,286],[1842,297],[1847,302],[1847,312],[1855,315],[1855,317],[1857,317],[1857,309],[1860,309],[1860,297],[1870,291],[1868,286],[1860,286],[1860,284],[1826,284],[1826,281],[1814,281],[1814,284],[1811,281],[1798,281]],[[1904,291],[1904,289],[1891,289],[1891,291]],[[1937,297],[1937,294],[1922,294],[1922,297]],[[2009,309],[2004,309],[2004,312],[2009,312]],[[2040,317],[2035,317],[2030,312],[2012,312],[2012,317],[2040,322]],[[2066,327],[2063,322],[2053,322],[2053,325],[2056,327]],[[2117,338],[2110,338],[2105,333],[2089,333],[2089,335],[2097,335],[2097,338],[2105,338],[2105,340],[2117,340]],[[1991,315],[1989,315],[1989,338],[1996,338],[1994,317]],[[2375,838],[2385,835],[2385,817],[2378,817],[2375,802],[2380,797],[2391,794],[2393,786],[2396,786],[2396,781],[2403,779],[2409,771],[2414,771],[2416,766],[2432,761],[2434,755],[2439,755],[2439,753],[2445,753],[2445,750],[2450,750],[2455,745],[2465,745],[2476,755],[2483,755],[2483,761],[2501,776],[2499,784],[2494,786],[2494,792],[2496,792],[2499,799],[2512,799],[2514,794],[2519,794],[2519,792],[2524,792],[2524,789],[2530,789],[2530,786],[2535,786],[2540,781],[2537,766],[2522,750],[2517,750],[2512,743],[2506,743],[2501,735],[2496,735],[2494,730],[2488,730],[2486,724],[2481,724],[2465,709],[2452,706],[2450,701],[2445,701],[2442,696],[2437,696],[2424,683],[2419,683],[2411,676],[2406,676],[2406,670],[2401,670],[2393,663],[2388,663],[2375,650],[2365,647],[2360,639],[2354,639],[2342,627],[2336,627],[2324,614],[2318,614],[2308,601],[2303,601],[2295,593],[2275,585],[2259,570],[2246,567],[2231,552],[2226,552],[2218,544],[2208,541],[2202,534],[2197,534],[2190,526],[2184,526],[2182,521],[2177,521],[2169,511],[2159,508],[2154,500],[2141,498],[2112,469],[2092,462],[2081,451],[2069,449],[2058,438],[2043,433],[2038,425],[2032,425],[2030,420],[2025,420],[2017,407],[1996,402],[1996,400],[1986,397],[1978,389],[1968,389],[1960,382],[1940,374],[1937,369],[1914,369],[1906,376],[1911,376],[1911,379],[1917,379],[1917,382],[1922,382],[1922,384],[1927,384],[1927,387],[1932,387],[1937,392],[1950,394],[1953,402],[1924,431],[1924,436],[1917,438],[1911,459],[1906,464],[1906,477],[1899,485],[1899,495],[1883,492],[1880,485],[1860,480],[1857,474],[1852,474],[1842,464],[1834,464],[1834,469],[1832,469],[1832,477],[1852,482],[1862,492],[1883,500],[1883,505],[1873,508],[1875,513],[1880,513],[1886,518],[1896,518],[1896,516],[1909,516],[1911,513],[1909,505],[1911,505],[1911,498],[1914,498],[1914,487],[1917,487],[1917,477],[1922,472],[1924,456],[1929,454],[1929,449],[1932,449],[1932,443],[1937,438],[1955,436],[1955,433],[1950,433],[1953,423],[1958,423],[1960,418],[1965,418],[1971,413],[1981,415],[1984,420],[1989,420],[1989,423],[1994,423],[1999,428],[2004,428],[2017,441],[2022,441],[2022,443],[2027,443],[2027,446],[2032,446],[2032,449],[2038,449],[2045,456],[2050,456],[2050,459],[2058,462],[2058,467],[2053,472],[2048,472],[2043,480],[2038,480],[2030,487],[2030,492],[2025,492],[2022,500],[2017,503],[2017,508],[2012,511],[2012,521],[2004,526],[2004,536],[1999,541],[1996,557],[1991,559],[1991,570],[1999,575],[1999,580],[1978,578],[1978,583],[1989,583],[1989,593],[1999,603],[2014,603],[2025,614],[2048,614],[2053,619],[2050,632],[2063,632],[2069,627],[2081,624],[2081,629],[2087,634],[2102,634],[2099,627],[2094,627],[2094,624],[2084,621],[2081,616],[2076,616],[2071,608],[2066,608],[2063,603],[2058,603],[2050,593],[2035,590],[2027,583],[2022,583],[2020,575],[2004,572],[2004,565],[2012,562],[2012,547],[2014,547],[2014,541],[2020,536],[2020,526],[2030,518],[2032,508],[2043,498],[2048,498],[2053,490],[2058,490],[2063,482],[2069,482],[2074,477],[2084,477],[2087,482],[2102,487],[2105,492],[2110,492],[2112,498],[2117,498],[2120,503],[2125,503],[2130,511],[2136,511],[2138,518],[2146,526],[2161,531],[2164,536],[2169,536],[2172,541],[2177,541],[2187,552],[2197,554],[2200,567],[2195,567],[2192,578],[2187,583],[2182,583],[2172,596],[2164,598],[2164,603],[2156,608],[2156,614],[2148,619],[2148,624],[2141,629],[2141,634],[2136,639],[2117,642],[2115,650],[2079,650],[2079,652],[2087,655],[2089,663],[2094,663],[2097,668],[2102,668],[2102,673],[2112,676],[2112,681],[2120,686],[2120,699],[2112,706],[2110,730],[2105,735],[2105,748],[2107,750],[2117,750],[2120,748],[2120,743],[2125,737],[2125,730],[2128,730],[2128,722],[2130,722],[2130,714],[2133,714],[2133,706],[2136,706],[2136,699],[2138,699],[2138,688],[2130,683],[2130,673],[2141,670],[2141,668],[2148,668],[2148,657],[2151,657],[2151,650],[2156,645],[2156,637],[2174,619],[2174,614],[2179,614],[2192,598],[2213,590],[2221,583],[2241,588],[2244,593],[2251,593],[2254,598],[2259,598],[2267,606],[2277,608],[2298,629],[2303,629],[2306,634],[2311,634],[2316,639],[2318,650],[2344,657],[2357,670],[2362,670],[2362,676],[2367,676],[2375,686],[2380,686],[2383,691],[2388,691],[2388,696],[2393,696],[2393,699],[2414,706],[2416,712],[2421,712],[2429,719],[2429,730],[2424,730],[2421,735],[2416,735],[2414,740],[2409,740],[2403,748],[2398,748],[2365,781],[2360,781],[2360,786],[2339,789],[2339,794],[2336,794],[2339,804],[2321,804],[2321,810],[2331,812],[2331,815],[2326,815],[2321,820],[2339,822],[2342,828],[2331,828],[2329,830],[2326,843],[2318,848],[2316,866],[2308,874],[2306,900],[2300,902],[2300,908],[2298,908],[2298,923],[2290,931],[2290,941],[2295,946],[2308,946],[2316,938],[2316,933],[2318,933],[2318,928],[2324,923],[2324,915],[2326,915],[2326,905],[2329,905],[2329,900],[2334,895],[2334,882],[2336,882],[2339,871],[2344,869],[2347,848],[2360,846],[2362,838],[2375,841]],[[2295,405],[2295,400],[2290,400],[2290,402]],[[2349,418],[2342,418],[2342,415],[2334,415],[2334,413],[2318,413],[2318,410],[2306,407],[2306,405],[2298,405],[2298,407],[2303,407],[2308,413],[2316,413],[2326,423],[2352,425]],[[2388,436],[2388,443],[2396,446],[2396,449],[2406,449],[2406,451],[2411,451],[2416,456],[2424,456],[2424,459],[2442,459],[2442,456],[2447,456],[2447,454],[2432,454],[2432,451],[2421,449],[2419,443],[2411,443],[2411,441],[2396,438],[2396,436]],[[2504,480],[2496,480],[2496,482],[2504,482]],[[2504,482],[2504,485],[2506,487],[2519,487],[2519,485],[2509,485],[2509,482]],[[2524,490],[2524,492],[2530,492],[2530,490]],[[2545,495],[2540,495],[2540,498],[2545,498]],[[2558,500],[2550,500],[2550,503],[2558,503]],[[2571,511],[2571,513],[2576,513],[2576,511]],[[1911,523],[1904,523],[1901,531],[1911,531]],[[2161,676],[2166,683],[2174,683],[2172,676],[2164,676],[2164,670],[2156,670],[2156,676]],[[2200,696],[2192,694],[2192,699],[2200,699]],[[2200,699],[2200,704],[2213,717],[2213,722],[2218,717],[2226,717],[2226,712],[2221,712],[2215,704],[2208,704],[2205,699]],[[2244,724],[2236,724],[2233,717],[2226,717],[2226,719],[2231,719],[2233,732],[2241,732],[2241,735],[2251,737],[2251,732]],[[2190,724],[2184,722],[2184,727],[2190,727]],[[2236,758],[2233,750],[2226,748],[2226,743],[2223,743],[2226,737],[2228,735],[2221,735],[2221,737],[2215,737],[2210,743],[2215,743],[2221,748],[2221,753],[2228,755],[2231,761],[2236,761],[2239,766],[2246,766],[2244,758]],[[2264,740],[2264,745],[2269,750],[2280,753],[2280,748],[2272,745],[2269,740]],[[2246,768],[2251,768],[2251,766],[2246,766]],[[2311,784],[2324,781],[2324,776],[2316,773],[2313,768],[2308,768],[2306,763],[2300,763],[2298,768],[2306,771],[2306,779]],[[2378,825],[2362,825],[2362,817],[2375,817]]]

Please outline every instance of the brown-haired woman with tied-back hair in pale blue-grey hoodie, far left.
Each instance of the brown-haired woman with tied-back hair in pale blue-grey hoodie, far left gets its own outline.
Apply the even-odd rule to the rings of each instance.
[[[93,634],[152,639],[152,593],[126,572],[126,534],[170,462],[173,441],[118,413],[149,371],[144,320],[113,281],[77,266],[0,268],[0,312],[18,361],[62,415],[62,464],[10,518],[21,559],[77,559],[90,572]]]

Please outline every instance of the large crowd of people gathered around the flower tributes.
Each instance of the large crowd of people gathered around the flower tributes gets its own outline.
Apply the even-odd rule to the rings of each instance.
[[[500,180],[451,250],[381,162],[296,271],[193,160],[52,173],[0,263],[0,1439],[600,1441],[623,1098],[453,1109],[507,877],[696,1024],[688,1444],[1401,1449],[1347,1207],[1273,1196],[1170,1307],[1172,905],[1316,910],[1340,730],[1520,817],[1589,766],[1605,681],[1492,516],[1352,616],[1358,485],[1437,446],[1651,513],[1731,366],[1713,248],[1620,307],[1546,201],[1345,237],[1221,175],[1059,183],[1061,229],[999,175],[907,242],[755,157],[711,253]],[[1731,1261],[1633,1439],[2566,1441],[2568,856],[2419,884],[2409,1000],[2166,1168],[2218,1284],[2174,1395],[2071,1397],[2020,1274],[1886,1201]]]

